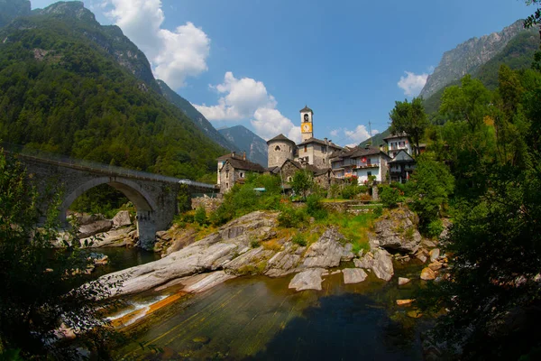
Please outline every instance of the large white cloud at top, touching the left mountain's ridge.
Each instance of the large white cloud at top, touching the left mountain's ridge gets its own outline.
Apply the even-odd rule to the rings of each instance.
[[[160,0],[104,0],[105,15],[118,25],[149,58],[157,78],[180,88],[187,77],[207,70],[210,39],[193,23],[173,32],[162,29],[165,20]],[[111,8],[112,6],[112,8]]]

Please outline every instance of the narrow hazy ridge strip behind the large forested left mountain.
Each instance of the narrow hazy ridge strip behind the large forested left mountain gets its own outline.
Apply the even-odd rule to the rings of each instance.
[[[215,141],[215,143],[223,146],[225,149],[235,152],[239,151],[239,149],[235,147],[233,143],[230,143],[227,139],[225,139],[224,135],[215,130],[215,127],[212,126],[208,120],[206,120],[206,117],[199,113],[196,107],[192,106],[188,100],[180,97],[179,94],[177,94],[173,89],[169,88],[169,86],[163,80],[159,79],[157,81],[163,97],[168,99],[175,106],[179,107],[179,109],[182,110],[182,112],[184,112],[184,114],[188,116],[188,118],[190,118],[194,124],[201,129],[201,131],[203,131],[203,133],[206,134],[206,136]]]

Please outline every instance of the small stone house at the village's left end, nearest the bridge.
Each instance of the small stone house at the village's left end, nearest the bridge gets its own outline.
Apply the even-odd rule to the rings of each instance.
[[[217,186],[220,193],[231,190],[235,184],[243,184],[250,172],[263,173],[265,169],[261,164],[246,160],[246,153],[242,156],[229,153],[221,156],[218,161]]]

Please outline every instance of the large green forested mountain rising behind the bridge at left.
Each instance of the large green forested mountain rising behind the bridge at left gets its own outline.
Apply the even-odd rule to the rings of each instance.
[[[82,3],[15,19],[0,37],[4,142],[192,179],[226,152],[161,96],[133,42]]]

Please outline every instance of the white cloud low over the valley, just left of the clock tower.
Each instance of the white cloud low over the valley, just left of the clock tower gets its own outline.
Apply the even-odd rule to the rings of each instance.
[[[277,102],[261,81],[251,78],[236,79],[231,71],[225,73],[224,82],[210,86],[222,97],[215,106],[194,105],[210,121],[250,119],[261,138],[268,140],[284,134],[300,142],[300,127],[295,126],[276,109]]]

